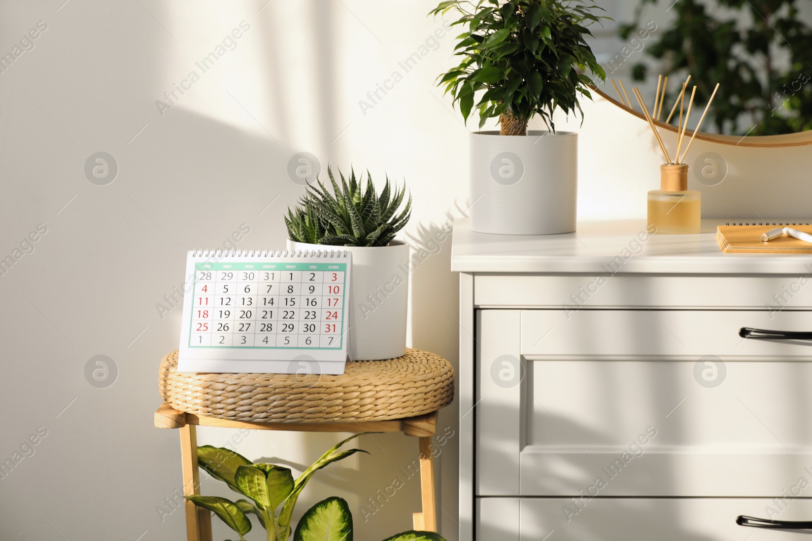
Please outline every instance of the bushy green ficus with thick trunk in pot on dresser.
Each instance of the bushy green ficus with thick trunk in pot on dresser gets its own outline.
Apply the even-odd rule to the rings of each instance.
[[[501,135],[526,135],[527,123],[538,114],[555,131],[553,112],[583,111],[579,94],[591,99],[586,75],[606,79],[585,36],[590,24],[608,19],[592,0],[449,0],[430,15],[456,11],[451,26],[462,62],[438,76],[438,86],[451,92],[467,121],[479,110],[479,127],[499,117]],[[577,109],[577,111],[576,111]]]

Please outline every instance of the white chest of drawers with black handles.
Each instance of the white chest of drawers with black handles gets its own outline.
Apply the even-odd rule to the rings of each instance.
[[[642,221],[455,226],[460,540],[809,539],[812,257]],[[809,499],[807,499],[809,498]]]

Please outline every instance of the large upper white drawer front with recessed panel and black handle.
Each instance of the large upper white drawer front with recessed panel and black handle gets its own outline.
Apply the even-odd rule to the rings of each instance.
[[[771,498],[812,475],[809,342],[742,341],[763,312],[477,316],[477,496]],[[793,318],[771,328],[812,328]]]

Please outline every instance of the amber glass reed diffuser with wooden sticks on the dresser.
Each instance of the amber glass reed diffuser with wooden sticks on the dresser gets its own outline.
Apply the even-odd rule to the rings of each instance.
[[[652,190],[648,194],[648,225],[649,230],[656,230],[657,233],[664,234],[695,234],[699,233],[702,225],[702,193],[696,190],[688,189],[688,165],[685,165],[685,157],[693,144],[693,139],[697,136],[699,128],[702,127],[702,122],[705,120],[705,115],[708,109],[711,108],[713,98],[716,96],[716,91],[719,90],[719,84],[716,84],[711,99],[699,118],[697,128],[685,145],[683,150],[683,142],[685,140],[685,131],[688,127],[688,120],[691,116],[691,109],[693,109],[693,97],[696,95],[697,87],[693,87],[691,91],[691,98],[688,103],[688,109],[685,111],[685,92],[688,89],[688,84],[691,80],[689,75],[685,83],[682,84],[682,92],[677,97],[674,107],[671,109],[671,114],[668,115],[666,122],[670,122],[672,116],[676,112],[676,106],[680,106],[680,122],[677,124],[676,130],[676,153],[674,159],[668,154],[668,150],[663,143],[663,138],[660,137],[657,126],[654,120],[659,120],[660,114],[663,112],[663,101],[665,99],[665,88],[668,83],[668,78],[665,78],[663,83],[663,75],[659,76],[657,81],[657,93],[654,96],[654,109],[649,113],[648,105],[643,99],[640,89],[635,87],[632,89],[634,97],[637,98],[637,103],[643,111],[643,115],[649,122],[651,131],[654,132],[654,137],[657,139],[660,150],[663,151],[665,163],[660,165],[660,189]],[[612,81],[615,84],[615,81]],[[632,108],[631,101],[628,101],[628,94],[623,86],[623,81],[620,81],[620,87],[623,88],[624,96],[628,102],[628,106]],[[615,90],[617,87],[615,86]],[[662,89],[662,94],[661,94]],[[623,95],[620,95],[620,101],[623,101]],[[683,113],[685,112],[685,117]],[[681,153],[681,156],[680,156]]]

